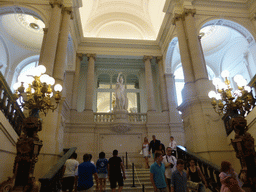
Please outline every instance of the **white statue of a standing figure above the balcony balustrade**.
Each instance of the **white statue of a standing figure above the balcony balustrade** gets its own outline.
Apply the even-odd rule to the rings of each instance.
[[[124,79],[120,76],[122,73],[118,73],[117,82],[116,82],[116,102],[115,107],[117,109],[127,109],[127,98],[125,96],[125,85],[123,84]]]

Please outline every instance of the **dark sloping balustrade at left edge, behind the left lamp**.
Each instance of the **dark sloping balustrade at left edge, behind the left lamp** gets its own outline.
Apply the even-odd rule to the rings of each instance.
[[[4,113],[15,132],[21,134],[21,125],[25,118],[16,99],[7,84],[3,74],[0,72],[0,110]]]

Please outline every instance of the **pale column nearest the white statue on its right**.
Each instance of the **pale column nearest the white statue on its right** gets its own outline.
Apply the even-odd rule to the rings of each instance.
[[[146,87],[147,87],[147,111],[156,111],[155,104],[155,95],[154,95],[154,85],[152,78],[152,70],[151,70],[151,60],[152,56],[144,56],[144,64],[145,64],[145,76],[146,76]]]

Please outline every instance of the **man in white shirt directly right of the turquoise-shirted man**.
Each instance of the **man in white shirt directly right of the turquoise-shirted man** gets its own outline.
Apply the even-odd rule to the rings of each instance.
[[[172,173],[176,170],[177,159],[172,156],[172,149],[166,148],[166,155],[163,157],[163,163],[165,165],[165,177],[168,191],[171,191],[171,178]]]

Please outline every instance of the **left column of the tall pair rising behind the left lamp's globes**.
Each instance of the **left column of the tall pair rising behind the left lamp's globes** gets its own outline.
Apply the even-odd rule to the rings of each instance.
[[[50,1],[50,4],[52,6],[52,15],[49,23],[47,37],[45,40],[44,50],[41,56],[41,63],[39,63],[46,67],[46,73],[50,76],[52,76],[53,73],[53,66],[58,43],[61,22],[61,10],[63,5],[62,2],[62,0]]]

